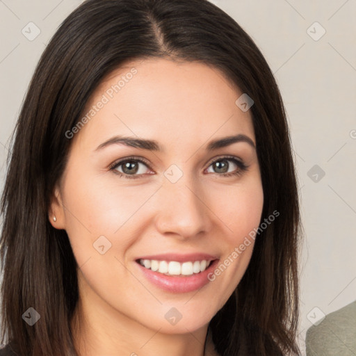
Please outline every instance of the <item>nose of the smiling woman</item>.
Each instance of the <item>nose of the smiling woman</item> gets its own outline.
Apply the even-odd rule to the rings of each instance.
[[[211,229],[211,209],[204,203],[204,189],[184,175],[167,180],[156,193],[156,229],[163,235],[186,239],[207,234]]]

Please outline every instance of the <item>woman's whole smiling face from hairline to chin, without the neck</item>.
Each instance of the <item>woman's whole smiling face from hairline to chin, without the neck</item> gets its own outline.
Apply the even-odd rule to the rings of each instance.
[[[70,238],[97,320],[185,333],[231,296],[264,202],[242,94],[207,65],[136,61],[100,84],[67,133],[51,223]]]

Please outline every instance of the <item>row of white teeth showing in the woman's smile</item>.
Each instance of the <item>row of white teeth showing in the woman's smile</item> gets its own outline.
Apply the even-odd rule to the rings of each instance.
[[[202,261],[188,261],[182,264],[177,261],[158,261],[156,259],[140,259],[140,264],[154,272],[165,275],[193,275],[206,270],[211,261],[203,259]]]

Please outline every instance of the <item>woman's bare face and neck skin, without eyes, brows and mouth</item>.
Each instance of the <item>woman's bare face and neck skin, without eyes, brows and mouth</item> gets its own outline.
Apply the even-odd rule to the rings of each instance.
[[[207,327],[245,273],[253,241],[216,280],[188,293],[153,285],[135,260],[205,252],[221,262],[259,226],[264,194],[254,147],[239,142],[205,149],[211,140],[238,133],[255,145],[251,114],[236,106],[242,92],[217,69],[161,58],[112,72],[87,109],[132,67],[137,74],[72,138],[51,200],[51,224],[66,230],[79,266],[76,344],[86,356],[161,356],[168,349],[172,356],[215,355],[211,341],[204,353]],[[96,150],[115,135],[156,140],[164,152],[120,144]],[[212,163],[225,155],[248,170],[224,177]],[[130,156],[149,163],[138,163],[137,179],[110,170]],[[233,161],[225,164],[223,172],[240,170]],[[164,175],[171,165],[183,173],[175,183]],[[118,171],[124,174],[123,165]],[[99,236],[111,242],[104,254],[93,248]],[[165,319],[172,307],[182,315],[175,325]]]

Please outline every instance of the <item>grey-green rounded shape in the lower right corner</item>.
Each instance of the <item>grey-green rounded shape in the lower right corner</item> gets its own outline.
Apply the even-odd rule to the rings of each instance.
[[[307,355],[355,355],[356,300],[307,330]]]

